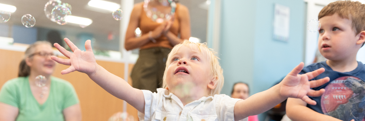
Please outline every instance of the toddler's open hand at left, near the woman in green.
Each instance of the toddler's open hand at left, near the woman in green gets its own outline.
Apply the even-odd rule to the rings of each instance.
[[[68,57],[69,59],[61,59],[56,56],[51,56],[51,59],[64,65],[71,65],[69,68],[62,70],[61,74],[67,74],[77,70],[78,72],[92,74],[96,71],[97,64],[94,57],[94,53],[91,49],[91,40],[87,40],[85,42],[86,51],[81,51],[74,45],[69,39],[64,39],[67,45],[71,48],[72,52],[67,51],[65,48],[61,47],[61,45],[55,43],[54,47],[58,49],[63,55]]]

